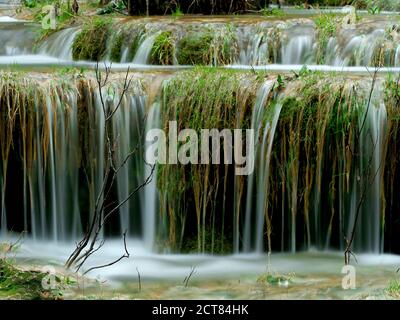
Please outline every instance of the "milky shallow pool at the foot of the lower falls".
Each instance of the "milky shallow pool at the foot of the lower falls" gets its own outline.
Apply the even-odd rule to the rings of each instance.
[[[352,261],[356,288],[344,290],[341,252],[275,253],[268,265],[266,255],[155,254],[145,250],[140,241],[127,244],[130,258],[91,271],[86,284],[79,281],[66,298],[391,299],[396,296],[390,295],[387,287],[400,280],[396,272],[400,256],[396,255],[358,255],[357,262]],[[72,249],[71,244],[26,240],[16,259],[21,265],[61,268]],[[110,240],[85,268],[107,264],[122,254],[121,241]],[[267,273],[288,281],[270,283],[265,281]]]

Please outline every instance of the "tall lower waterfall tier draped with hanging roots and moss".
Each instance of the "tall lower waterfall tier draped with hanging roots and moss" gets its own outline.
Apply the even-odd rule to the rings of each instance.
[[[132,73],[127,90],[110,77],[100,90],[92,72],[0,73],[0,237],[79,239],[108,183],[109,132],[121,166],[104,214],[151,174],[149,150],[158,163],[101,237],[225,254],[354,236],[359,252],[400,252],[395,76],[194,68]]]

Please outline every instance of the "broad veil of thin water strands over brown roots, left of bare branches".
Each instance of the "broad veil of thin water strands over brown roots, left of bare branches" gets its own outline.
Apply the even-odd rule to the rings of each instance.
[[[24,206],[30,207],[29,213],[24,212],[24,220],[30,224],[34,240],[66,241],[81,232],[76,192],[79,176],[77,96],[68,89],[64,95],[60,97],[53,92],[53,96],[46,97],[44,106],[38,100],[37,157],[32,163],[24,159],[24,193],[29,194]],[[43,143],[47,144],[46,148]]]

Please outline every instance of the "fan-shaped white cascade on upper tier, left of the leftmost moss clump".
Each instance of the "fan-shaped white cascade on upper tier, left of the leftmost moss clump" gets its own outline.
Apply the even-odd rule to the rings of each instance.
[[[78,33],[77,28],[68,28],[56,32],[43,42],[38,53],[72,61],[72,44]]]

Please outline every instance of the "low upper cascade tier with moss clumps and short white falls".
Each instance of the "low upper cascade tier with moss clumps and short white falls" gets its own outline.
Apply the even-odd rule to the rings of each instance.
[[[0,21],[1,60],[136,65],[400,66],[400,25],[391,16],[320,14],[307,18],[182,17],[89,19],[47,36],[39,26]],[[8,60],[7,60],[8,59]],[[49,60],[50,61],[50,60]]]

